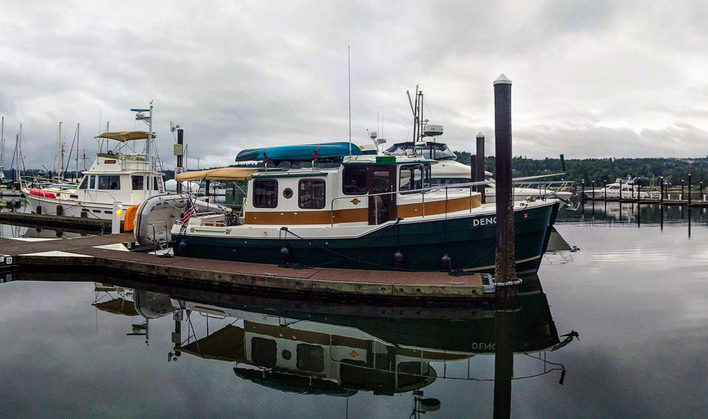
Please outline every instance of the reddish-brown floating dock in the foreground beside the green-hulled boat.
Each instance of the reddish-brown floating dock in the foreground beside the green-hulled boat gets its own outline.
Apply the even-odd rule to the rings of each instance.
[[[0,258],[5,269],[83,270],[164,285],[256,295],[279,294],[299,299],[344,297],[459,302],[494,297],[493,285],[490,287],[486,283],[488,277],[480,274],[454,277],[447,272],[292,269],[222,260],[166,258],[107,248],[133,240],[132,234],[43,241],[0,239]]]

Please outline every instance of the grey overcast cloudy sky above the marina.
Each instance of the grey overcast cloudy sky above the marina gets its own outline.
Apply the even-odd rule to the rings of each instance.
[[[130,108],[151,100],[166,168],[171,121],[192,168],[348,141],[348,46],[355,144],[377,127],[409,139],[406,90],[419,84],[442,140],[472,149],[482,131],[491,150],[503,73],[516,155],[708,154],[706,1],[413,3],[1,1],[6,154],[22,123],[27,166],[51,165],[59,122],[67,147],[80,122],[93,154],[107,121],[144,129]]]

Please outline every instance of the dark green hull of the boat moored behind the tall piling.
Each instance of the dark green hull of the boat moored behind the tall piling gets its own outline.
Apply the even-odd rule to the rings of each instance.
[[[559,203],[515,209],[515,255],[519,273],[536,272],[546,251],[550,227]],[[287,234],[286,234],[287,233]],[[496,254],[494,214],[434,222],[384,226],[359,238],[300,239],[282,231],[278,239],[173,235],[176,255],[280,265],[282,249],[287,262],[307,267],[394,270],[394,254],[403,255],[403,269],[440,271],[447,254],[452,269],[493,272]],[[180,253],[180,243],[186,251]]]

